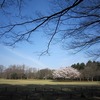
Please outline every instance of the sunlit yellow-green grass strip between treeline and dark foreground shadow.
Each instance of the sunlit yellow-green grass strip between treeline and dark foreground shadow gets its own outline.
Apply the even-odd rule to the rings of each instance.
[[[29,84],[37,84],[37,85],[100,85],[98,81],[72,81],[72,82],[60,82],[53,80],[11,80],[11,79],[0,79],[0,84],[10,84],[10,85],[29,85]]]

